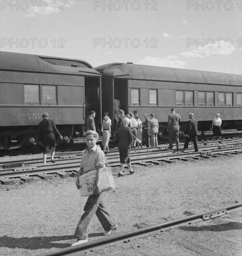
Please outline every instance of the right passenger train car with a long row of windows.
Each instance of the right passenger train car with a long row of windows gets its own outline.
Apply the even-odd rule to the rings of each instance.
[[[170,108],[181,115],[181,131],[194,113],[199,129],[209,130],[216,113],[222,128],[242,130],[242,76],[132,63],[95,67],[102,76],[102,108],[114,117],[114,99],[125,114],[155,113],[161,133],[166,133]]]

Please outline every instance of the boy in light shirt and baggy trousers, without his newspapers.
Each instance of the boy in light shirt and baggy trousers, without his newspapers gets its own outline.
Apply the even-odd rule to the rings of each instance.
[[[97,179],[95,180],[94,195],[90,195],[85,203],[84,213],[81,216],[75,236],[77,242],[72,243],[72,246],[88,242],[88,235],[91,231],[91,224],[94,215],[102,224],[105,232],[103,236],[110,236],[113,230],[118,228],[118,225],[111,215],[111,212],[103,202],[103,195],[100,188],[102,179],[102,170],[105,167],[106,158],[104,152],[97,147],[98,133],[93,130],[86,131],[87,148],[83,150],[81,157],[80,169],[77,175],[76,186],[80,189],[79,177],[89,171],[98,170]]]

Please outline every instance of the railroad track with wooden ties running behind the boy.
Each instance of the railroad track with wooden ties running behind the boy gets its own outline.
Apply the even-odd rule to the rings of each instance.
[[[203,143],[204,144],[204,143]],[[242,140],[229,139],[222,144],[217,142],[205,142],[199,146],[199,152],[194,152],[194,148],[177,150],[167,150],[163,147],[140,148],[131,150],[131,161],[144,166],[153,164],[172,163],[176,161],[190,161],[203,158],[213,158],[218,156],[227,156],[231,154],[242,153]],[[107,166],[118,166],[119,155],[118,150],[109,152],[107,157]],[[79,170],[81,162],[81,154],[67,155],[63,159],[59,159],[55,164],[39,165],[42,160],[32,160],[30,162],[5,162],[0,168],[0,181],[3,184],[13,182],[11,178],[20,178],[26,182],[33,180],[33,175],[39,175],[43,179],[52,179],[52,174],[57,173],[62,177],[70,176],[73,172]],[[30,164],[31,163],[31,164]]]

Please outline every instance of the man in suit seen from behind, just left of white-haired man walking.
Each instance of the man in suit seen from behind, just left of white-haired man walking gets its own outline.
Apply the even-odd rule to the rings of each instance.
[[[167,131],[169,132],[169,149],[172,149],[173,137],[176,141],[177,150],[179,150],[179,125],[182,122],[181,116],[175,113],[175,108],[170,109],[170,115],[168,116]]]

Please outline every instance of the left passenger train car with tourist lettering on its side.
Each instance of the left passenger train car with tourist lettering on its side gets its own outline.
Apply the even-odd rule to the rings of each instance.
[[[70,142],[73,131],[82,134],[85,111],[101,120],[100,91],[101,74],[86,61],[1,52],[0,148],[36,144],[43,112]]]

